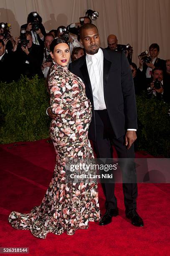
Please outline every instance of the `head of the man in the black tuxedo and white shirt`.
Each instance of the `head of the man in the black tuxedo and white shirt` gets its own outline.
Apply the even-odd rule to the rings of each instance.
[[[96,54],[100,48],[100,37],[97,29],[95,27],[83,29],[80,42],[87,54]]]

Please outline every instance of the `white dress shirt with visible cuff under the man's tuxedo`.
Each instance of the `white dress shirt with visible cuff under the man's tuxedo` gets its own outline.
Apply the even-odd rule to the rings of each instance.
[[[91,82],[94,110],[106,109],[104,101],[104,89],[103,89],[103,51],[99,48],[99,51],[90,55],[86,53],[86,64]],[[127,129],[127,131],[137,131],[136,129]]]

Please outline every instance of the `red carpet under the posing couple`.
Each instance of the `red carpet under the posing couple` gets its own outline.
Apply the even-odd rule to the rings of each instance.
[[[143,152],[137,157],[146,157]],[[149,157],[149,156],[148,156]],[[119,216],[107,226],[89,223],[74,236],[49,233],[46,239],[8,223],[11,211],[29,212],[39,205],[55,165],[53,144],[46,140],[0,146],[0,247],[29,247],[30,255],[170,255],[170,184],[139,184],[138,212],[145,226],[132,226],[125,218],[122,185],[116,185]],[[99,185],[100,208],[104,195]],[[168,206],[169,205],[169,206]],[[10,254],[11,255],[11,254]]]

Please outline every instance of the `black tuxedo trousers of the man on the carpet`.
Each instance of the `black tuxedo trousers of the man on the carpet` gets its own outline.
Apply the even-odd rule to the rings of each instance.
[[[107,110],[95,110],[96,121],[96,141],[94,151],[97,158],[113,158],[113,145],[116,148],[118,158],[134,159],[134,145],[127,149],[125,146],[125,136],[115,138],[112,125],[107,114]],[[132,128],[132,127],[129,127]],[[131,169],[131,174],[136,177],[136,169]],[[114,183],[101,183],[106,197],[105,206],[116,208],[117,198],[114,195]],[[136,208],[137,183],[123,183],[124,205],[127,210]]]

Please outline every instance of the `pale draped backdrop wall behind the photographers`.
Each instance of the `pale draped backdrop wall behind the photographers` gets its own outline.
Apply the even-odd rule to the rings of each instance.
[[[137,54],[152,43],[159,44],[160,58],[170,59],[170,0],[0,0],[0,22],[11,23],[15,37],[32,11],[41,15],[49,31],[78,22],[87,9],[99,12],[93,23],[102,47],[107,47],[107,36],[113,33],[119,44],[133,46],[137,65]]]

